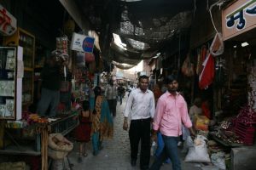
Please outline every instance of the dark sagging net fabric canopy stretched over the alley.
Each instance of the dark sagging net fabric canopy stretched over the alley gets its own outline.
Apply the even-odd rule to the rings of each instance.
[[[181,30],[187,30],[193,18],[195,0],[74,0],[90,27],[100,35],[102,55],[108,61],[136,65],[154,57],[162,44]],[[118,34],[126,49],[113,43]]]

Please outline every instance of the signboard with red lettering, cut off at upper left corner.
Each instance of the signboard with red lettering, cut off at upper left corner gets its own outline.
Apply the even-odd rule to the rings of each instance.
[[[0,4],[0,32],[4,36],[11,36],[17,30],[17,20]]]

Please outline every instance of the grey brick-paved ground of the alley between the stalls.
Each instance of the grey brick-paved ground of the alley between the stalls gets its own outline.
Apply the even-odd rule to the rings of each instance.
[[[122,111],[125,109],[127,94],[123,99],[122,105],[117,104],[117,116],[113,118],[113,139],[105,140],[103,142],[103,149],[97,156],[92,155],[91,144],[86,147],[88,156],[83,157],[81,163],[78,162],[78,144],[75,144],[73,152],[68,156],[71,163],[73,163],[73,170],[130,170],[139,169],[139,160],[137,160],[137,166],[131,167],[130,163],[130,144],[128,132],[124,131],[123,121],[124,116]],[[139,156],[138,156],[139,157]],[[184,156],[182,155],[184,158]],[[151,157],[151,163],[154,158]],[[151,165],[150,163],[150,165]],[[201,170],[199,164],[185,163],[182,159],[184,170]],[[172,169],[171,164],[164,164],[162,170]]]

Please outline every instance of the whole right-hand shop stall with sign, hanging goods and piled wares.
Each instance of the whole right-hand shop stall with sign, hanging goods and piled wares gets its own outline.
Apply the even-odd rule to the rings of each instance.
[[[208,21],[201,18],[200,6],[191,31],[188,62],[195,71],[191,99],[207,101],[193,122],[198,134],[207,137],[212,163],[219,166],[216,162],[222,161],[225,169],[255,167],[255,5],[234,1],[222,7],[222,16],[212,5]]]

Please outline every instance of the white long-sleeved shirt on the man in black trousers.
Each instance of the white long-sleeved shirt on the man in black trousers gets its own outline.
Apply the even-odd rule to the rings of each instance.
[[[125,117],[131,114],[131,120],[153,118],[154,112],[154,94],[152,91],[147,89],[146,92],[143,93],[141,88],[136,88],[131,91],[125,105]]]

